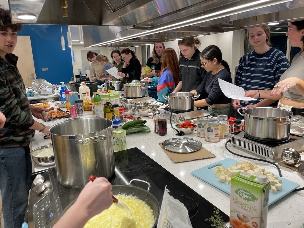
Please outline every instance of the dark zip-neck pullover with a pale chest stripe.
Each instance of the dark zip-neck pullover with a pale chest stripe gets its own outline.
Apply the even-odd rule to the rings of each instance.
[[[206,70],[201,67],[200,53],[201,52],[196,49],[190,59],[182,55],[178,60],[179,68],[181,69],[179,80],[182,81],[182,92],[194,90],[201,84],[207,74]]]

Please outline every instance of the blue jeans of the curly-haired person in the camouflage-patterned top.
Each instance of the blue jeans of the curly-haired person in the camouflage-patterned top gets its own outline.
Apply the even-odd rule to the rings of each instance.
[[[0,147],[0,191],[5,228],[22,226],[32,186],[29,147]]]

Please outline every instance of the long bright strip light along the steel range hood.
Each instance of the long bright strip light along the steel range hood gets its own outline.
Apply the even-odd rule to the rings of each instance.
[[[150,29],[148,31],[144,31],[141,33],[137,33],[131,36],[125,36],[125,37],[120,37],[114,40],[109,40],[106,42],[102,42],[102,43],[97,43],[97,44],[93,44],[90,45],[89,47],[98,47],[98,46],[102,46],[102,45],[106,45],[106,44],[110,44],[110,43],[115,43],[115,42],[119,42],[119,41],[123,41],[123,40],[128,40],[128,39],[132,39],[132,38],[136,38],[136,37],[140,37],[142,35],[151,35],[154,34],[156,32],[164,32],[164,31],[168,31],[168,30],[172,30],[172,29],[178,29],[181,27],[185,27],[185,26],[190,26],[193,24],[197,24],[197,23],[201,23],[201,22],[206,22],[212,19],[218,19],[218,18],[222,18],[222,17],[226,17],[226,16],[231,16],[231,15],[235,15],[237,13],[241,13],[241,12],[247,12],[247,10],[245,10],[247,7],[250,6],[256,6],[255,8],[252,7],[250,8],[250,10],[253,9],[259,9],[261,8],[261,4],[265,3],[265,2],[270,2],[271,0],[260,0],[260,1],[255,1],[255,2],[250,2],[244,5],[240,5],[240,6],[236,6],[236,7],[231,7],[228,9],[224,9],[224,10],[220,10],[218,12],[214,12],[214,13],[210,13],[210,14],[206,14],[200,17],[196,17],[196,18],[192,18],[186,21],[182,21],[182,22],[178,22],[178,23],[174,23],[172,25],[167,25],[167,26],[163,26],[161,28],[157,28],[157,29]],[[292,0],[282,0],[280,2],[276,2],[276,3],[271,3],[270,5],[275,5],[278,3],[283,3],[283,2],[291,2]],[[237,12],[233,12],[235,10],[239,10]]]

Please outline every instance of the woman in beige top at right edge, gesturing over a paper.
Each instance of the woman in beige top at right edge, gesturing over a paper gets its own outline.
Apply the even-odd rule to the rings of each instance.
[[[288,22],[286,36],[292,47],[301,48],[292,59],[291,67],[282,74],[274,88],[249,90],[245,92],[245,96],[279,100],[279,109],[291,111],[292,108],[304,108],[304,20]],[[292,122],[290,133],[304,136],[304,119]]]

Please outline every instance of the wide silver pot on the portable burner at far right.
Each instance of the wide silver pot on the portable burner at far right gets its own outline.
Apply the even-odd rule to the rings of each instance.
[[[245,110],[241,113],[240,110]],[[245,116],[244,131],[259,139],[284,140],[290,135],[290,123],[302,118],[292,119],[292,112],[271,107],[239,108],[237,112]]]

